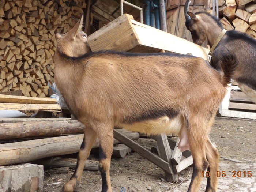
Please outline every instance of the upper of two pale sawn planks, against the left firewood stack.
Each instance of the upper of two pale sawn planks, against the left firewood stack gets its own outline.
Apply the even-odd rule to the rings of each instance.
[[[52,98],[25,97],[0,94],[0,103],[54,104],[57,103],[57,100]]]

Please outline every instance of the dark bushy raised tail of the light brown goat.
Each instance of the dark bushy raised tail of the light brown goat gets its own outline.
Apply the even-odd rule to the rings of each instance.
[[[219,58],[219,62],[221,62],[221,82],[223,86],[227,86],[234,75],[234,70],[237,66],[237,58],[229,51],[226,51],[222,54],[221,58]]]

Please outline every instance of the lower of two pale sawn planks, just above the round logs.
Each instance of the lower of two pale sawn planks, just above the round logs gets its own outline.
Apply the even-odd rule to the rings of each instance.
[[[0,103],[0,110],[43,110],[60,111],[58,104],[20,104],[20,103]]]

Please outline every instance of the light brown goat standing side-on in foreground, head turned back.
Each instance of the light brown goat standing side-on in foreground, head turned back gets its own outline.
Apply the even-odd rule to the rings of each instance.
[[[56,34],[55,82],[71,112],[86,128],[76,170],[64,185],[72,192],[84,163],[99,139],[102,192],[111,192],[110,159],[113,128],[148,135],[177,133],[182,151],[190,147],[193,175],[189,192],[196,192],[210,167],[206,191],[217,190],[218,151],[208,132],[226,93],[226,77],[202,58],[171,53],[90,52],[82,29],[83,16],[66,34]]]

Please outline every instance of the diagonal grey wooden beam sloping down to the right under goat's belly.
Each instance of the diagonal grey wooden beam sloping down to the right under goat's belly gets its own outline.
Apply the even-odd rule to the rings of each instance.
[[[126,136],[119,133],[116,129],[114,129],[114,138],[119,140],[120,142],[124,143],[126,146],[131,148],[133,151],[141,155],[142,157],[146,158],[148,161],[154,163],[165,172],[172,174],[170,169],[170,164],[163,159],[159,158],[154,153],[146,150],[144,147],[140,146],[138,143],[134,142],[133,140],[127,138]]]

